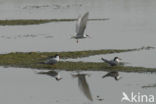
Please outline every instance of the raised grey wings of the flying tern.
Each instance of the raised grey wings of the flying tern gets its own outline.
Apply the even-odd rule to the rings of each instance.
[[[77,22],[76,22],[76,33],[77,35],[83,35],[84,30],[87,25],[89,12],[85,13],[83,16],[79,16]]]

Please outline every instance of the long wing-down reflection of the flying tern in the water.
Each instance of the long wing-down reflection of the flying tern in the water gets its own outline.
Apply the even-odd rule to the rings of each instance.
[[[72,76],[74,78],[78,77],[78,85],[79,85],[80,90],[83,92],[83,94],[90,101],[93,101],[93,98],[92,98],[92,95],[91,95],[91,92],[90,92],[90,89],[89,89],[89,85],[88,85],[87,80],[86,80],[86,75],[87,74],[75,74],[75,75],[72,75]]]

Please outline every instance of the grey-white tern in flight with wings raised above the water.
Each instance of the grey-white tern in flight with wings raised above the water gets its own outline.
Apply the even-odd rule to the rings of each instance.
[[[78,39],[83,39],[89,37],[89,35],[84,34],[84,31],[87,26],[89,12],[86,12],[83,16],[79,16],[76,22],[76,35],[72,38],[77,39],[77,43],[79,42]]]

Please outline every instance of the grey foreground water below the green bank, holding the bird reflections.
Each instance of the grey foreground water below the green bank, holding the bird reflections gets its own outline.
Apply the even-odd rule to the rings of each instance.
[[[41,70],[40,70],[41,71]],[[89,85],[93,102],[80,91],[77,78],[71,76],[75,72],[60,71],[62,80],[37,74],[39,70],[24,68],[0,68],[0,103],[9,104],[121,104],[122,92],[128,95],[147,94],[156,96],[156,88],[142,88],[156,83],[155,74],[120,73],[122,79],[115,81],[111,77],[102,79],[106,74],[102,71],[81,72],[89,74],[86,81]],[[104,100],[97,100],[97,96]],[[126,103],[125,104],[129,104]]]

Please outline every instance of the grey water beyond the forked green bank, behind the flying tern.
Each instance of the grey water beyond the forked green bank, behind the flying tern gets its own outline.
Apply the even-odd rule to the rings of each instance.
[[[155,4],[155,0],[2,0],[1,19],[77,18],[89,11],[89,18],[109,20],[89,21],[86,34],[91,38],[78,44],[70,39],[75,34],[75,22],[0,26],[0,50],[4,53],[156,46]]]

